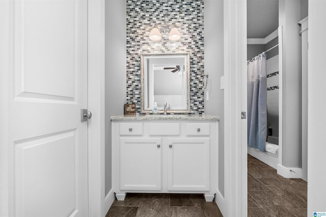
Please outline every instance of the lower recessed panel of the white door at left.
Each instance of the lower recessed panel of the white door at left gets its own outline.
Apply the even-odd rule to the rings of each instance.
[[[58,209],[51,214],[56,216],[69,216],[75,209],[76,134],[72,130],[15,144],[16,205],[24,207],[17,216],[33,216],[35,204],[38,213],[47,213],[55,204]]]

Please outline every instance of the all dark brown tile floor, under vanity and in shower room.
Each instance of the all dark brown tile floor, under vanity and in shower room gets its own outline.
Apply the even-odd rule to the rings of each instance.
[[[106,217],[223,216],[202,194],[127,194],[115,200]],[[307,216],[307,182],[285,179],[248,155],[248,216]]]

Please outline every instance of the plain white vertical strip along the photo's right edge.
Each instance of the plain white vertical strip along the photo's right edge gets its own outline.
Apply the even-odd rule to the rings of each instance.
[[[326,212],[326,1],[309,0],[308,30],[308,216]]]

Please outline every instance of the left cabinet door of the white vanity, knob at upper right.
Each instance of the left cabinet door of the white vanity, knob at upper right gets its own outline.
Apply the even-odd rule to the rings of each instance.
[[[120,190],[161,190],[161,139],[120,139]]]

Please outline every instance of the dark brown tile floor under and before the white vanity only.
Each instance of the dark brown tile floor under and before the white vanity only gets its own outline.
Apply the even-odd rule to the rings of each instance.
[[[114,216],[223,216],[215,202],[206,202],[202,194],[127,194],[115,200],[105,217]]]

